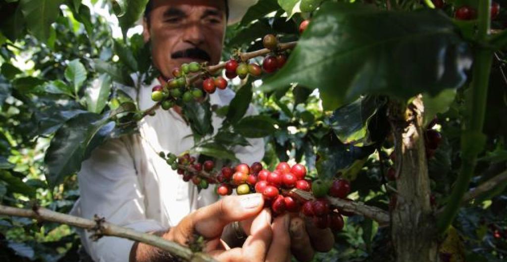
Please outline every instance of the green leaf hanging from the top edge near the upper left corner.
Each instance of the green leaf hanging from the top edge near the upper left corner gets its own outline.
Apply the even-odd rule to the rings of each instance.
[[[63,0],[21,0],[20,7],[30,32],[39,40],[46,41],[51,24],[60,14]]]

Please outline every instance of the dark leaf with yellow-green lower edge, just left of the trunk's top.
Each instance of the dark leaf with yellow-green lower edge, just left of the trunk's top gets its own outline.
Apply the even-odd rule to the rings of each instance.
[[[335,110],[329,125],[344,144],[370,145],[372,141],[368,137],[368,123],[378,108],[383,105],[384,103],[376,97],[359,98]]]

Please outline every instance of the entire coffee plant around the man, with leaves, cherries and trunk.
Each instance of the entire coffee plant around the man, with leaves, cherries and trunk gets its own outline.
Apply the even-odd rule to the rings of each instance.
[[[262,193],[275,215],[331,228],[314,261],[505,260],[507,2],[259,0],[227,28],[223,62],[170,78],[128,33],[146,3],[0,0],[0,260],[86,261],[70,226],[114,225],[58,216],[81,163],[174,109],[195,145],[160,157],[199,190]],[[141,109],[132,91],[153,79]],[[241,163],[259,138],[262,161]]]

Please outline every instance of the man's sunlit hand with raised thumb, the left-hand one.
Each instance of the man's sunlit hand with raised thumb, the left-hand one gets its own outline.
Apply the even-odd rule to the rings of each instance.
[[[220,261],[285,262],[289,259],[290,238],[288,215],[277,217],[271,224],[271,213],[263,209],[261,194],[229,196],[187,215],[163,238],[187,245],[194,234],[205,238],[203,251]],[[220,236],[224,227],[234,221],[253,217],[249,236],[241,247],[227,249]],[[158,261],[160,251],[137,244],[132,248],[131,261]]]

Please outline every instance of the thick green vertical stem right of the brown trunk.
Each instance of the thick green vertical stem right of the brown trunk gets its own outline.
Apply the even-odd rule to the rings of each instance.
[[[479,35],[480,43],[486,43],[490,28],[491,0],[479,2]],[[472,75],[472,119],[465,123],[464,132],[461,136],[461,167],[458,178],[452,189],[449,201],[437,221],[440,233],[447,230],[454,217],[458,213],[463,195],[468,190],[468,185],[477,162],[477,155],[483,150],[485,136],[482,133],[486,101],[488,95],[489,75],[493,52],[485,45],[480,45],[475,50],[475,61]]]

